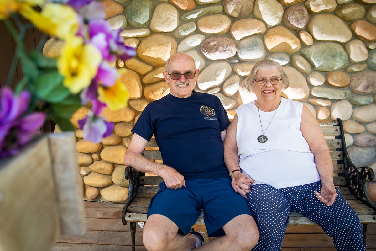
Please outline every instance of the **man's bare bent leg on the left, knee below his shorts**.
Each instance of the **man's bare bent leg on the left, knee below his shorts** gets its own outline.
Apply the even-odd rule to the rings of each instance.
[[[196,247],[194,236],[177,233],[179,227],[161,214],[152,214],[143,230],[143,242],[148,251],[190,251]]]

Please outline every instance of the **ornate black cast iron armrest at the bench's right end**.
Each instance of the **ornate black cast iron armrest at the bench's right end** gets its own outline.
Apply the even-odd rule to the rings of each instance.
[[[342,138],[342,145],[343,145],[343,154],[344,154],[344,167],[345,167],[345,175],[346,175],[346,183],[350,189],[350,192],[359,200],[374,208],[376,210],[376,206],[370,200],[367,194],[367,189],[365,186],[365,181],[368,180],[372,181],[374,179],[374,172],[368,166],[358,167],[356,166],[350,159],[349,153],[347,152],[345,136],[343,131],[343,124],[341,119],[337,119],[341,129],[341,138]]]

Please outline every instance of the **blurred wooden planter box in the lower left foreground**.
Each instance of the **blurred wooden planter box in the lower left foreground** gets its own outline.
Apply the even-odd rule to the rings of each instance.
[[[45,134],[0,162],[0,250],[48,251],[83,234],[83,184],[73,132]]]

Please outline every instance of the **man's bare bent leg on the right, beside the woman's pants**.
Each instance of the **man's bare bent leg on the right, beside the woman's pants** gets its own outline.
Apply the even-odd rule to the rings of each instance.
[[[241,214],[223,226],[226,233],[194,249],[195,251],[249,251],[256,246],[259,231],[255,220],[248,214]]]

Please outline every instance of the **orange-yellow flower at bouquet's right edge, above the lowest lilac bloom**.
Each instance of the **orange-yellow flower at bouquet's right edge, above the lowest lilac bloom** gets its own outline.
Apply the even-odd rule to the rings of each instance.
[[[119,75],[121,74],[119,73]],[[120,78],[111,87],[98,87],[98,100],[106,103],[108,108],[113,111],[126,107],[128,99],[129,93],[125,85],[120,81]]]

